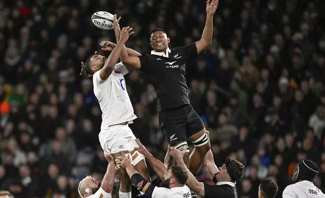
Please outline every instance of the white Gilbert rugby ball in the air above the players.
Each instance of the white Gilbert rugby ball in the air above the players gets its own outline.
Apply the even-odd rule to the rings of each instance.
[[[102,30],[111,30],[113,29],[113,19],[114,15],[108,12],[95,12],[91,16],[92,23],[99,29]]]

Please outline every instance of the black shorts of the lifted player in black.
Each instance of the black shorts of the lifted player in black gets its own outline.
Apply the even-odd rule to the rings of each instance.
[[[201,118],[192,105],[160,111],[159,122],[161,131],[171,146],[186,141],[188,137],[204,128]]]

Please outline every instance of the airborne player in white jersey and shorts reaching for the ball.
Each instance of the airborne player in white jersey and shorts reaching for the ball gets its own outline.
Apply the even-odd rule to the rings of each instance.
[[[120,20],[120,18],[119,18]],[[133,107],[126,90],[124,75],[128,69],[123,63],[118,63],[124,43],[133,34],[132,28],[119,27],[119,20],[114,15],[114,31],[118,41],[108,59],[96,53],[82,63],[82,74],[84,71],[88,76],[93,76],[94,93],[98,99],[102,111],[101,131],[99,142],[104,151],[109,151],[115,159],[121,156],[121,152],[130,156],[134,168],[146,179],[150,180],[149,173],[143,155],[134,151],[137,147],[136,138],[129,128],[137,117],[134,115]],[[101,45],[105,45],[102,42]],[[130,56],[141,56],[138,52],[127,49]],[[121,177],[120,197],[131,198],[131,180],[124,169],[118,169]],[[82,192],[84,193],[84,192]]]

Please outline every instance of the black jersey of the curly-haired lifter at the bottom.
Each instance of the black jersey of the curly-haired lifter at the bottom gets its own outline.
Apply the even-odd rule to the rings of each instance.
[[[234,197],[234,193],[228,190],[224,185],[208,185],[204,183],[204,197],[227,198]]]

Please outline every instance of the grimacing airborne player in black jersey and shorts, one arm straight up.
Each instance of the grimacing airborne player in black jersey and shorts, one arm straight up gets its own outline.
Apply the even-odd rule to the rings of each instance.
[[[124,47],[120,57],[123,64],[150,75],[158,96],[161,130],[171,146],[188,151],[185,161],[194,174],[210,150],[210,144],[202,120],[190,105],[185,70],[211,44],[213,15],[218,4],[218,0],[206,2],[205,27],[201,39],[195,43],[171,49],[166,32],[163,29],[153,29],[150,32],[150,45],[153,48],[151,54],[130,56]],[[195,146],[190,162],[187,140]]]

